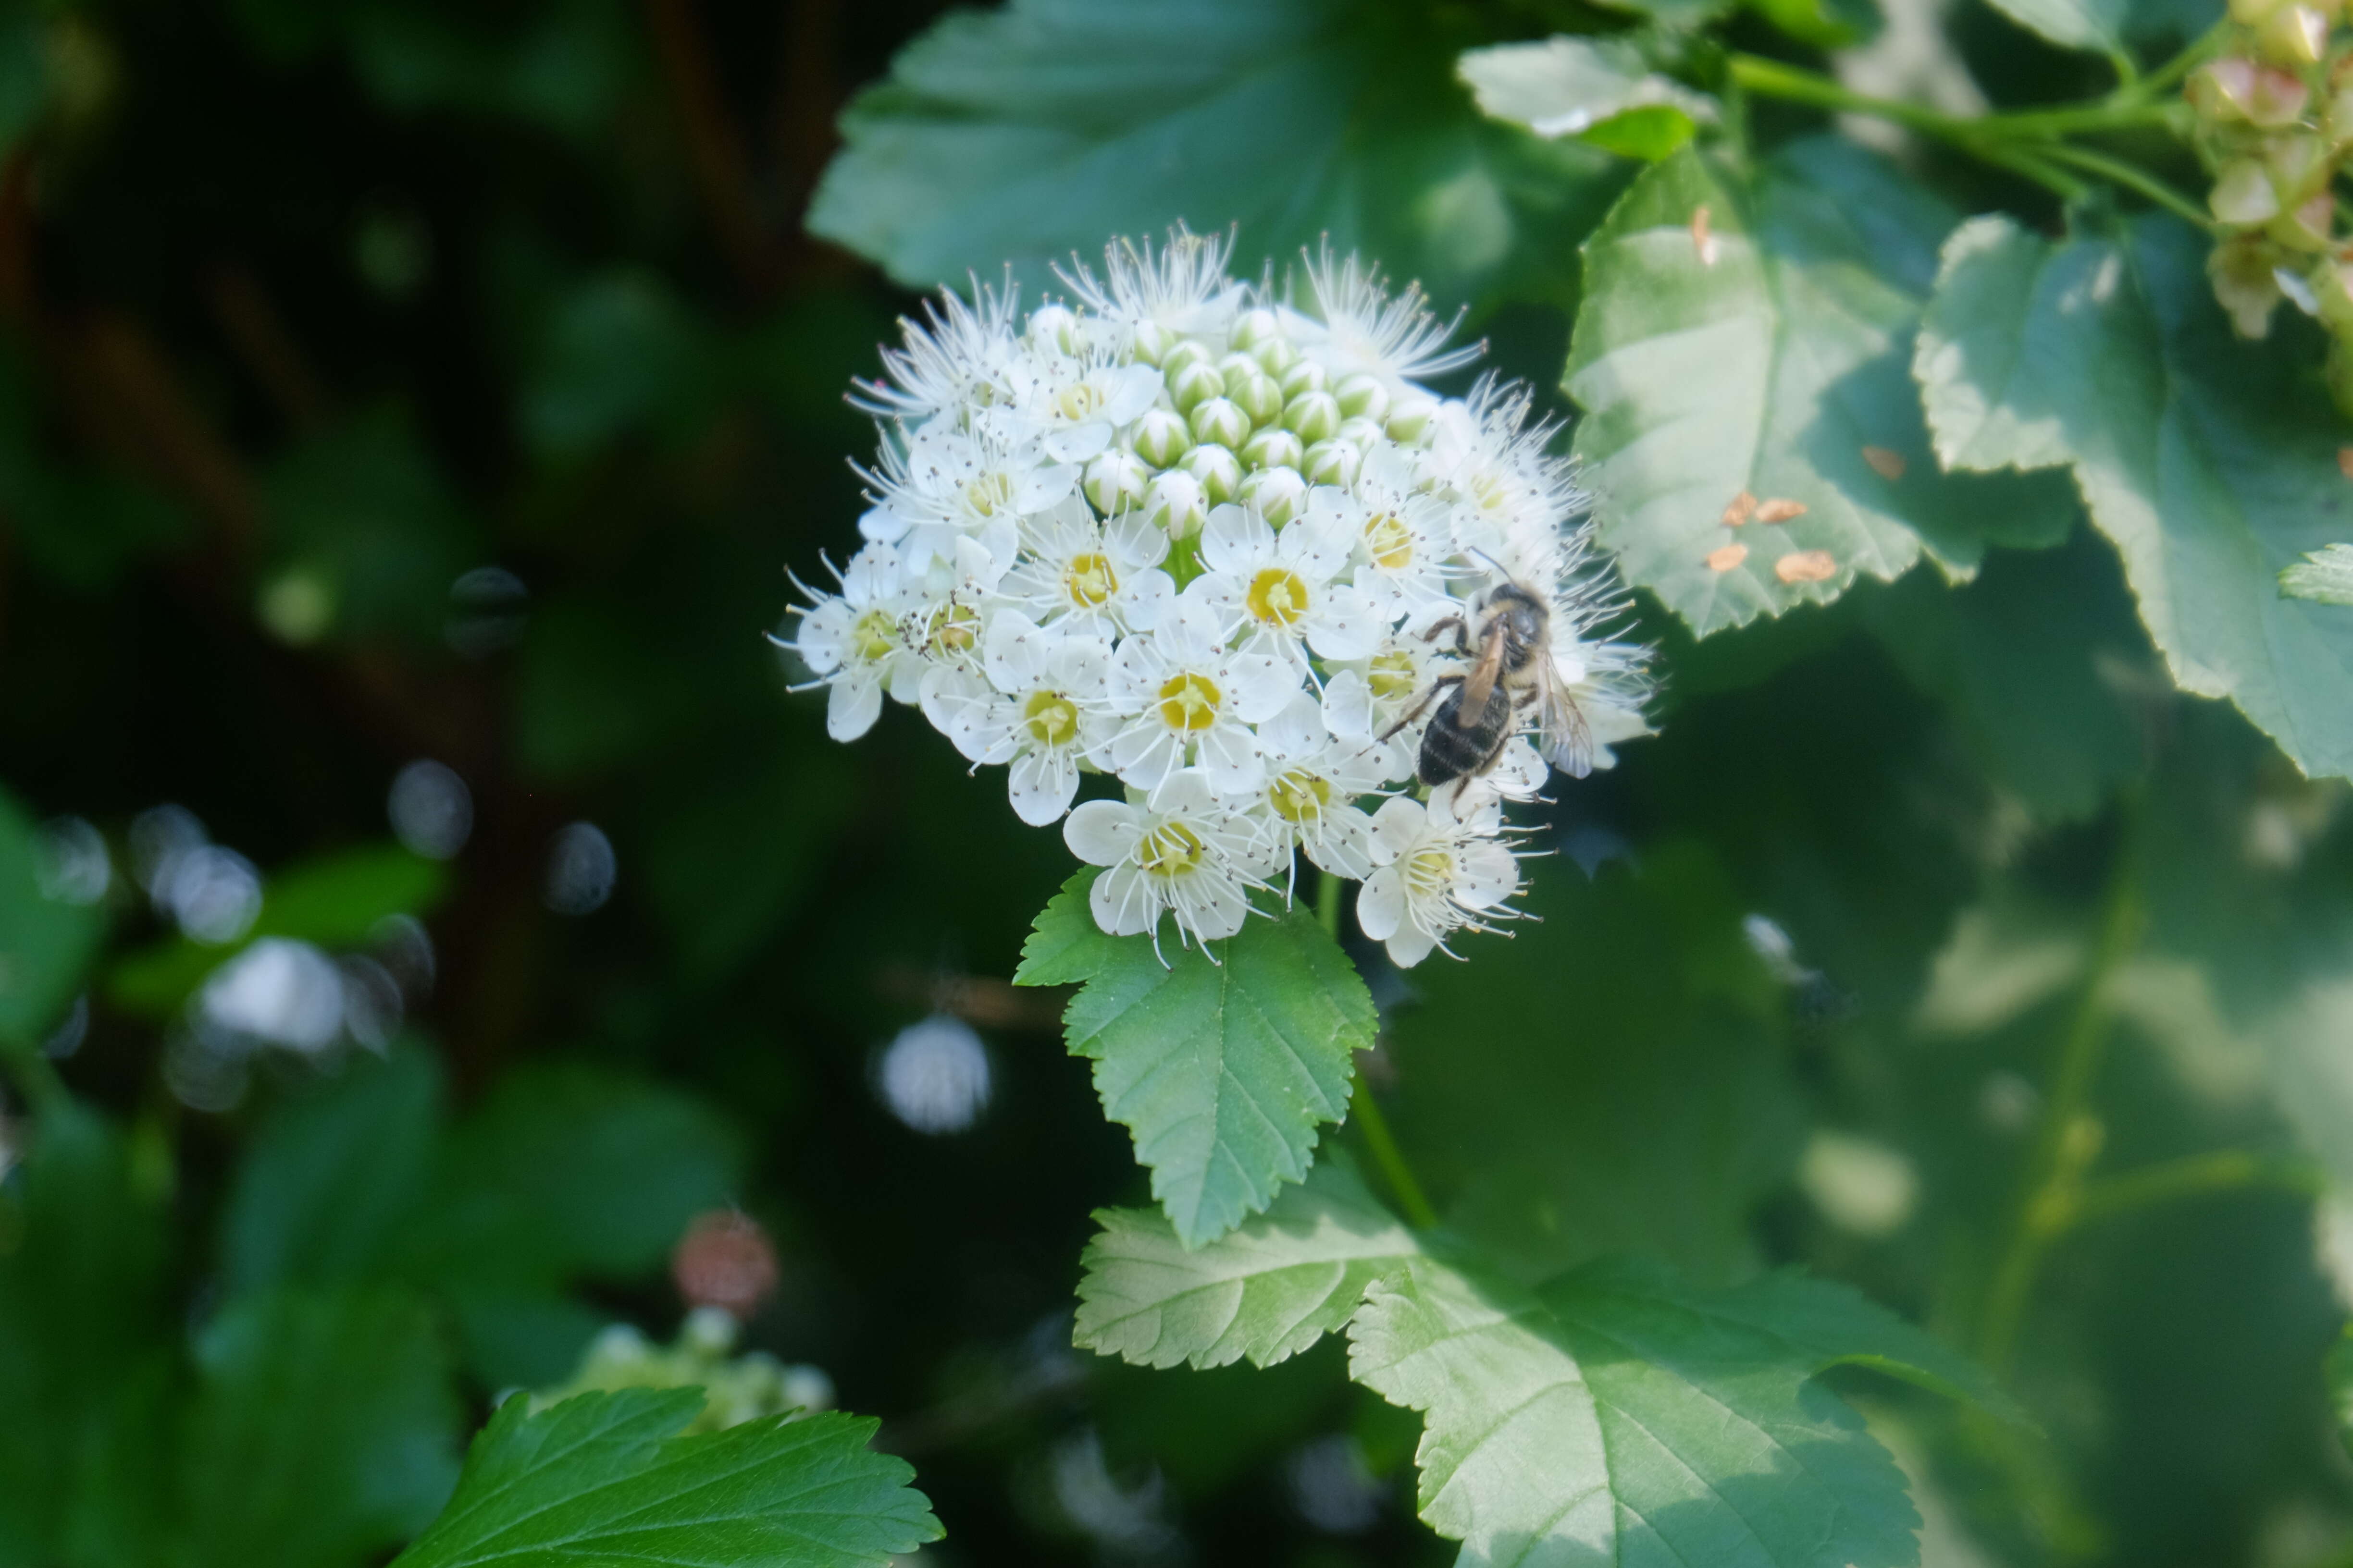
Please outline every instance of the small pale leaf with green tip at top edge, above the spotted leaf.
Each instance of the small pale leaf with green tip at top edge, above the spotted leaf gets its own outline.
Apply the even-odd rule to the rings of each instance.
[[[1715,122],[1715,99],[1659,75],[1624,38],[1546,38],[1468,49],[1454,73],[1480,110],[1537,136],[1581,136],[1612,153],[1666,158]]]

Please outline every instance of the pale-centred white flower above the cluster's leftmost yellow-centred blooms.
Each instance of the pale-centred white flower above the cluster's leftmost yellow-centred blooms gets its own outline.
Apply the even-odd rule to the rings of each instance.
[[[958,538],[976,538],[1002,574],[1021,550],[1021,520],[1078,489],[1078,465],[1049,461],[1038,442],[967,435],[944,418],[913,437],[885,440],[880,473],[861,475],[880,494],[859,517],[859,531],[899,545],[915,578],[934,559],[953,562]]]

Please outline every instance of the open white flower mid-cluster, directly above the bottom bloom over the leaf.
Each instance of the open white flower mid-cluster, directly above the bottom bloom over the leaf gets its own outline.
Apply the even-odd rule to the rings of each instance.
[[[1219,795],[1257,795],[1266,764],[1249,726],[1275,717],[1294,691],[1292,665],[1228,649],[1179,609],[1111,658],[1111,708],[1127,722],[1099,757],[1136,790],[1160,788],[1191,762]]]

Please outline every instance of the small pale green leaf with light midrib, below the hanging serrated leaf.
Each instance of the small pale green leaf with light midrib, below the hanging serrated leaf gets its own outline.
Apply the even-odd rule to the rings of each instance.
[[[1099,1208],[1094,1222],[1071,1340],[1136,1366],[1273,1366],[1346,1324],[1377,1274],[1421,1251],[1337,1152],[1195,1251],[1153,1211]]]

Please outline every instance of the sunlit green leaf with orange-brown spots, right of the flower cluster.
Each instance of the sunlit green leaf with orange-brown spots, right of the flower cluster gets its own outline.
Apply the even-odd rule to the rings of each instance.
[[[1814,139],[1746,179],[1685,148],[1586,242],[1574,451],[1602,545],[1694,632],[1894,578],[1922,548],[1965,576],[1988,541],[2064,536],[2054,487],[1988,491],[1929,456],[1906,362],[1953,216]]]

